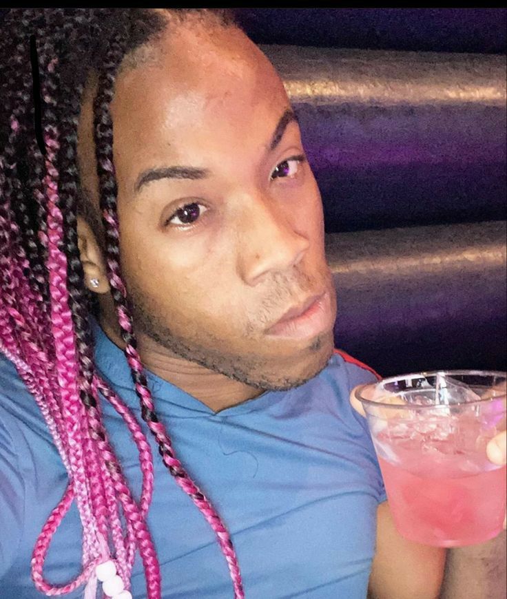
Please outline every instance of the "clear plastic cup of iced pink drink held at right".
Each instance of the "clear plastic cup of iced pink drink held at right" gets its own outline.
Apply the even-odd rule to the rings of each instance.
[[[506,467],[489,461],[486,445],[506,430],[506,372],[402,375],[355,396],[402,536],[462,547],[501,532]]]

